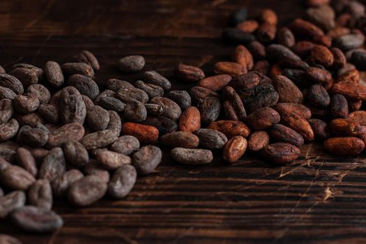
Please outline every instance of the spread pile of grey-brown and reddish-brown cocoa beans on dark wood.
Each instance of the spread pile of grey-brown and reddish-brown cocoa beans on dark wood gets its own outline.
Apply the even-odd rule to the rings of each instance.
[[[231,59],[206,70],[215,75],[183,63],[174,69],[190,91],[171,91],[169,79],[144,70],[143,56],[116,65],[141,74],[133,84],[94,79],[100,66],[88,51],[43,68],[0,68],[0,218],[25,231],[54,231],[63,225],[54,199],[77,207],[105,195],[123,199],[138,175],[158,167],[159,146],[183,165],[209,164],[213,152],[230,164],[245,153],[285,164],[314,140],[336,155],[361,153],[365,6],[307,6],[306,18],[282,27],[273,10],[249,19],[238,10],[222,33],[234,44]],[[17,243],[0,235],[9,240]]]

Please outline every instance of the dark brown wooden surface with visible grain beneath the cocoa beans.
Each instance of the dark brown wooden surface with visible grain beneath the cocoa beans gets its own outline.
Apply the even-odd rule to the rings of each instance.
[[[300,0],[215,1],[0,1],[0,63],[43,66],[82,49],[98,56],[96,80],[123,78],[114,64],[128,54],[146,57],[175,82],[176,63],[201,66],[228,60],[220,40],[229,14],[240,6],[270,7],[281,22],[303,15]],[[89,208],[56,202],[65,221],[54,234],[24,234],[0,222],[0,232],[23,243],[365,243],[366,157],[337,158],[319,144],[299,160],[273,167],[245,155],[226,165],[183,167],[166,155],[154,174],[140,177],[121,201]]]

